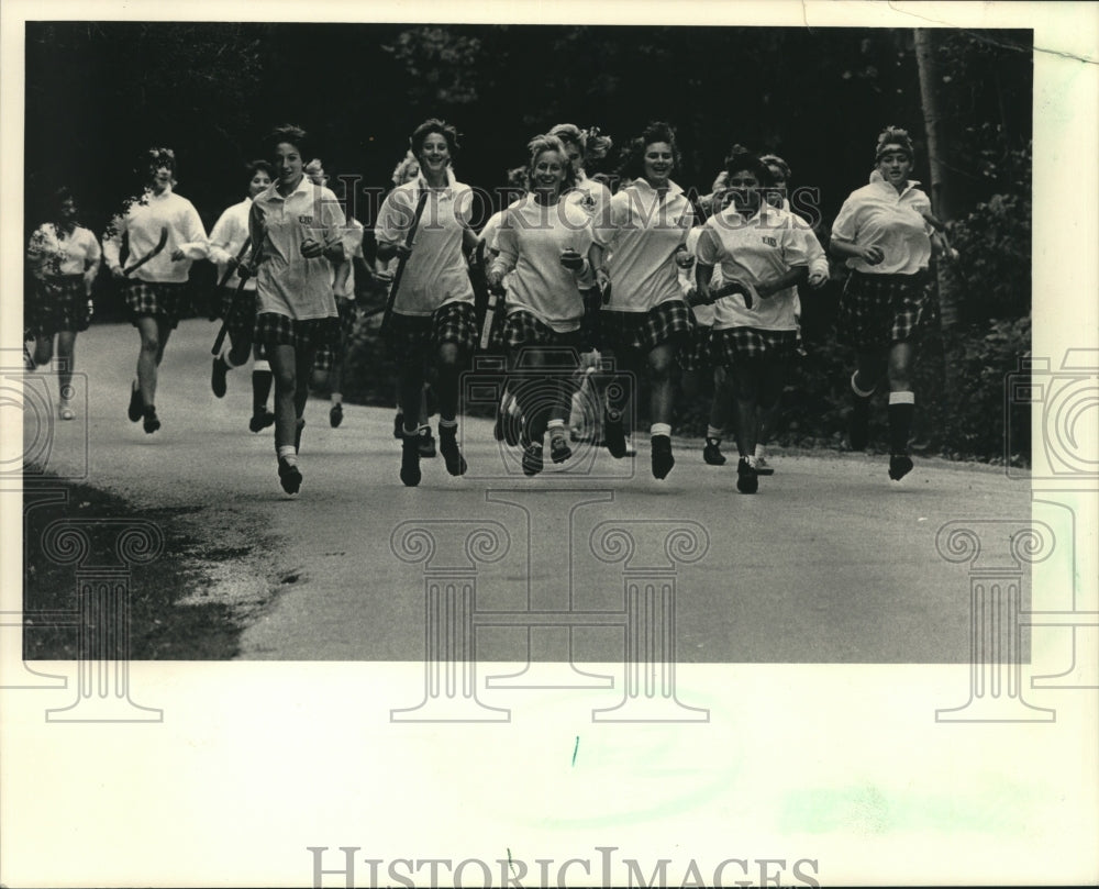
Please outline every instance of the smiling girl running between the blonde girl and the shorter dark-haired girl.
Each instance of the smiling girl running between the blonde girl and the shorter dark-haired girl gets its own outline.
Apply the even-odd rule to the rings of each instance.
[[[693,320],[679,286],[676,257],[685,255],[695,211],[670,176],[679,167],[675,133],[651,123],[629,146],[622,173],[631,182],[611,198],[606,218],[592,223],[589,259],[600,290],[610,289],[600,316],[602,344],[619,369],[651,384],[653,477],[671,471],[673,367]],[[623,426],[629,387],[608,387],[603,437],[613,457],[626,453]]]

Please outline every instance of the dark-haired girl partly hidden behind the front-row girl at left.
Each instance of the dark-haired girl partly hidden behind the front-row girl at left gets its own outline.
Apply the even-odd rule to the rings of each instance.
[[[221,318],[224,320],[230,345],[213,359],[210,388],[214,396],[223,398],[226,375],[247,362],[249,352],[254,352],[252,419],[248,421],[248,429],[259,432],[275,422],[275,414],[267,410],[273,375],[270,365],[263,355],[263,348],[258,344],[255,346],[252,344],[252,331],[256,325],[256,280],[245,279],[242,287],[241,276],[236,271],[240,260],[236,257],[248,238],[252,201],[270,187],[274,175],[271,165],[260,159],[251,160],[244,169],[248,176],[247,197],[225,210],[210,232],[210,259],[218,266],[218,280],[224,278],[227,271],[232,271],[221,293]]]

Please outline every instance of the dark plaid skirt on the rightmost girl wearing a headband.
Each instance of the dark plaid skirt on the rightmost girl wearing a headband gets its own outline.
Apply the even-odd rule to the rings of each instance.
[[[840,338],[858,352],[880,352],[913,340],[934,312],[934,279],[852,271],[836,321]]]

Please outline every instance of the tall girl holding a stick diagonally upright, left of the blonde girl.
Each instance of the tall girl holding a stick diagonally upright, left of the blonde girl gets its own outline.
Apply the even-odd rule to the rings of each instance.
[[[463,249],[477,245],[469,227],[473,190],[453,181],[451,163],[459,151],[457,131],[431,119],[409,137],[419,162],[415,181],[386,197],[375,226],[377,258],[404,260],[387,336],[399,362],[398,387],[404,418],[401,481],[420,484],[420,415],[425,363],[439,373],[439,452],[446,471],[460,476],[466,460],[458,448],[458,375],[477,345],[477,313]],[[422,214],[412,245],[407,246],[417,207]]]

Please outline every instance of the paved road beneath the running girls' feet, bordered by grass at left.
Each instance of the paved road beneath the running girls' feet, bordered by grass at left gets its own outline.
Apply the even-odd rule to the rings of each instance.
[[[468,476],[425,460],[423,482],[407,489],[391,411],[347,405],[333,430],[322,401],[307,408],[304,485],[291,499],[278,486],[270,432],[247,431],[247,374],[230,376],[224,399],[210,392],[215,331],[190,320],[173,336],[157,398],[164,427],[152,436],[125,418],[133,329],[95,325],[80,335],[78,365],[88,379],[88,480],[138,508],[199,509],[211,565],[196,596],[251,603],[242,658],[420,659],[424,571],[456,577],[465,567],[478,610],[503,612],[621,611],[628,576],[674,578],[681,662],[962,663],[968,581],[937,555],[936,531],[952,519],[1030,514],[1028,486],[996,469],[921,459],[893,484],[882,457],[864,455],[779,454],[761,492],[742,496],[733,464],[707,466],[687,441],[676,442],[663,482],[650,475],[645,442],[635,462],[581,448],[564,468],[526,479],[486,420],[463,423]],[[79,467],[84,427],[84,418],[55,425],[51,468]],[[402,523],[425,520],[435,522],[434,554],[400,560],[395,530],[399,541],[412,529]],[[476,527],[485,533],[473,544],[489,548],[470,552],[497,560],[469,562]],[[684,535],[666,549],[676,527]],[[624,562],[614,560],[623,537],[607,535],[614,529],[634,546]],[[693,562],[692,545],[706,551]],[[536,659],[562,659],[570,637],[575,659],[617,660],[621,633],[535,630],[532,645]],[[525,631],[486,626],[478,646],[484,659],[523,659]]]

